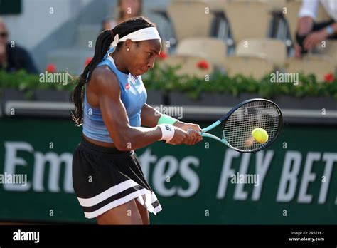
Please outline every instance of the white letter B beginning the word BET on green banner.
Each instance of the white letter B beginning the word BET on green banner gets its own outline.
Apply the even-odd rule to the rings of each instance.
[[[299,170],[301,169],[301,160],[301,153],[296,151],[286,152],[281,180],[279,180],[279,190],[277,191],[277,202],[290,202],[294,198]]]

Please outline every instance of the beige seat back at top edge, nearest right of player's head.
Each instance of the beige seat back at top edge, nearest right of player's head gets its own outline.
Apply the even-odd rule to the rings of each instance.
[[[200,1],[171,1],[168,7],[169,18],[173,24],[176,40],[210,36],[213,12],[208,4]],[[188,20],[186,20],[188,14]]]

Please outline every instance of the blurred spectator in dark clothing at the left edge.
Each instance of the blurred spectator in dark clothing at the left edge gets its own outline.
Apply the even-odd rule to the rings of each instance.
[[[9,72],[25,69],[28,73],[38,73],[31,56],[16,43],[12,46],[8,41],[9,31],[0,18],[0,70]]]

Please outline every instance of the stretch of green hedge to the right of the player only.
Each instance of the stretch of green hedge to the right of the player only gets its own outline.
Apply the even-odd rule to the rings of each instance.
[[[316,81],[314,75],[299,74],[299,84],[271,83],[270,75],[257,81],[251,77],[237,75],[229,77],[223,73],[214,73],[208,78],[191,78],[176,75],[176,68],[159,68],[155,66],[144,75],[147,89],[161,91],[179,91],[186,93],[189,98],[197,99],[200,93],[230,93],[234,96],[239,93],[258,93],[261,97],[272,98],[275,95],[292,95],[296,97],[325,96],[337,99],[337,80],[331,75],[329,82]]]

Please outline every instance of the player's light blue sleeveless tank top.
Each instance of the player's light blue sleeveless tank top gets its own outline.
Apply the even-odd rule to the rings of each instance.
[[[146,103],[147,93],[144,87],[141,76],[134,77],[130,73],[125,74],[117,69],[114,64],[114,59],[109,56],[114,48],[109,49],[107,54],[98,63],[98,66],[109,66],[110,70],[117,76],[119,88],[121,91],[121,100],[127,110],[129,123],[133,127],[141,126],[141,108]],[[102,119],[100,108],[92,108],[87,102],[87,93],[85,85],[85,97],[83,103],[83,134],[93,140],[113,143],[112,138]]]

